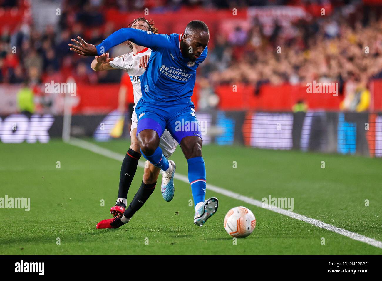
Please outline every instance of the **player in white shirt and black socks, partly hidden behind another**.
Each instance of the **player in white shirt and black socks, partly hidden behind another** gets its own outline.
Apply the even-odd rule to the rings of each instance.
[[[154,25],[147,21],[144,18],[134,19],[130,24],[132,28],[148,30],[157,33],[157,29]],[[123,69],[125,70],[133,84],[134,89],[134,112],[131,115],[131,146],[126,153],[125,158],[123,159],[121,166],[121,175],[120,175],[120,186],[118,190],[117,204],[110,208],[110,213],[113,214],[115,218],[121,218],[123,221],[129,221],[136,211],[143,206],[149,196],[152,194],[157,182],[160,168],[155,167],[149,161],[146,162],[144,175],[142,180],[142,185],[139,188],[138,192],[134,196],[134,199],[131,201],[128,208],[127,205],[127,193],[131,181],[133,180],[134,174],[137,169],[138,160],[141,157],[140,148],[138,145],[138,140],[136,136],[138,117],[135,112],[135,106],[138,103],[139,99],[142,97],[141,92],[141,81],[139,76],[141,76],[147,66],[148,57],[151,54],[151,49],[136,45],[130,42],[133,52],[130,52],[125,55],[120,55],[119,57],[109,58],[108,53],[104,53],[100,56],[96,56],[93,60],[91,67],[95,71],[102,70],[112,70],[112,69]],[[165,130],[163,135],[160,138],[160,148],[163,150],[163,155],[168,159],[173,152],[175,151],[178,143],[170,133]],[[162,171],[162,185],[161,191],[162,196],[166,201],[171,201],[173,198],[173,192],[168,195],[166,187],[170,179],[172,179],[175,172],[175,163],[172,160],[171,164],[174,169],[171,174],[166,174]],[[104,219],[97,224],[97,228],[110,228],[110,224],[113,223],[113,219]]]

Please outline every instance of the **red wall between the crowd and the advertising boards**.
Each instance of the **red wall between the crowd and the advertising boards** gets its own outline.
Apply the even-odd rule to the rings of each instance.
[[[51,84],[51,83],[47,83]],[[253,85],[235,84],[220,85],[215,88],[219,96],[218,109],[224,111],[256,110],[265,112],[291,111],[297,101],[303,100],[309,110],[338,111],[343,95],[330,93],[307,93],[307,87],[301,85],[283,84],[279,86],[265,84],[258,91]],[[63,112],[63,94],[46,94],[45,84],[35,87],[37,101],[51,100],[52,107],[44,110]],[[0,114],[17,112],[17,93],[21,85],[0,85]],[[107,114],[118,107],[119,84],[84,84],[76,83],[76,95],[72,98],[73,114]],[[370,112],[382,111],[382,80],[374,80],[369,84],[371,93]],[[132,101],[133,87],[128,83],[128,100]],[[196,83],[192,100],[198,109],[201,86]],[[38,106],[39,102],[36,102]]]

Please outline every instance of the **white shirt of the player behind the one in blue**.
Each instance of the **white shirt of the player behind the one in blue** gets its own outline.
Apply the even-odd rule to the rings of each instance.
[[[113,68],[123,69],[130,76],[131,84],[133,84],[134,90],[134,110],[139,99],[142,97],[141,80],[139,80],[139,76],[144,73],[145,69],[139,67],[139,59],[144,55],[151,55],[151,49],[145,48],[136,55],[134,55],[134,52],[120,55],[119,57],[115,57],[114,60],[110,62],[110,65]]]

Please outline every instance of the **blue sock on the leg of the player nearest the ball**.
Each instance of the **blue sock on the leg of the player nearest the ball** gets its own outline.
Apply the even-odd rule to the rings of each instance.
[[[206,197],[206,166],[203,157],[194,157],[187,160],[188,181],[191,184],[192,196],[196,206],[199,202],[204,202]]]

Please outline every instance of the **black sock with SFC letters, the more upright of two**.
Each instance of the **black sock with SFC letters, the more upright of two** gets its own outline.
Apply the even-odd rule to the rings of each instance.
[[[123,158],[120,175],[120,186],[118,188],[118,198],[127,198],[127,192],[137,171],[138,160],[141,154],[129,149]]]

